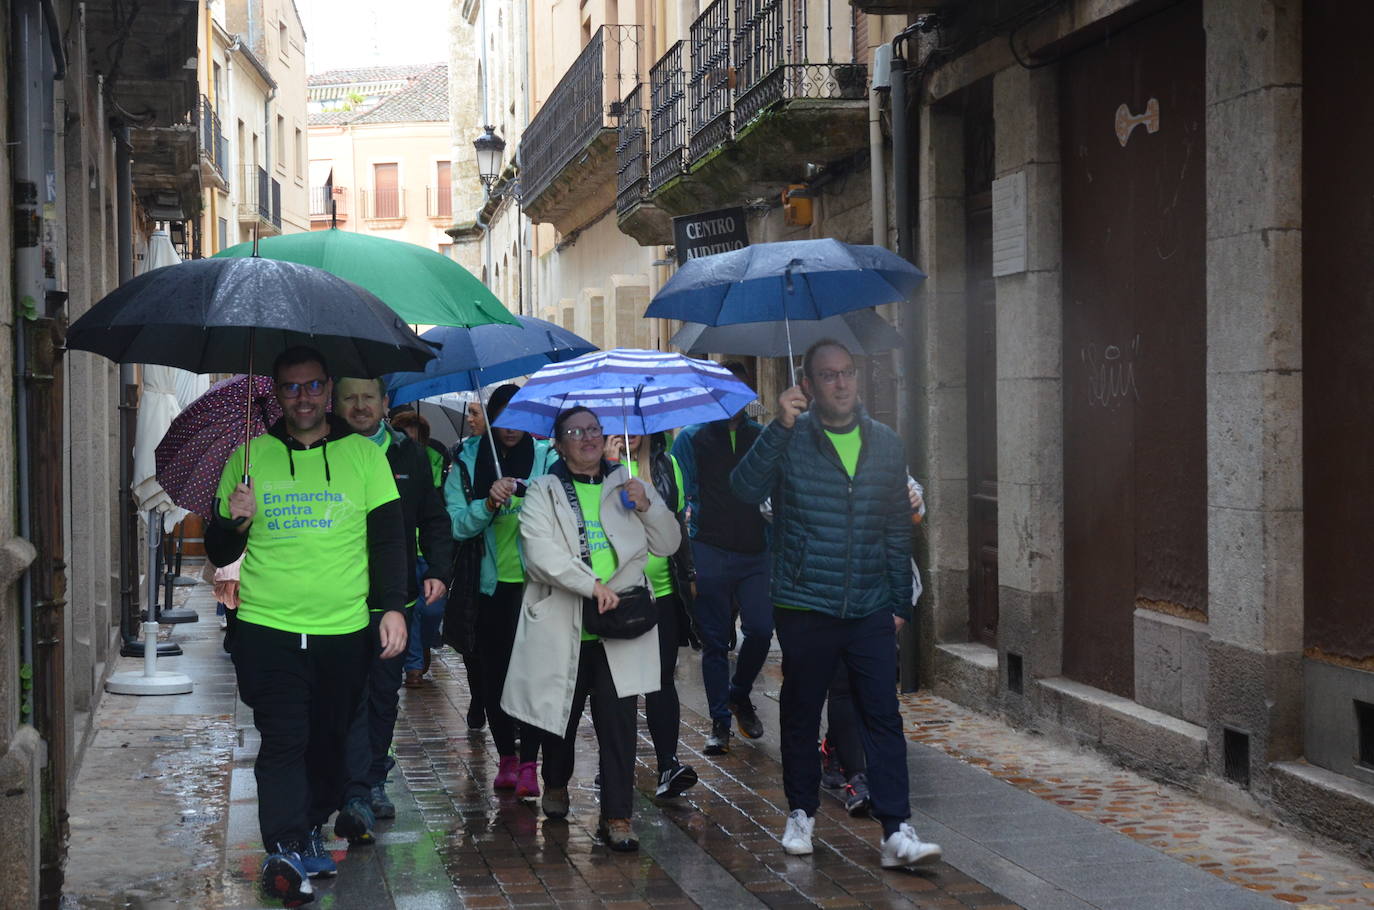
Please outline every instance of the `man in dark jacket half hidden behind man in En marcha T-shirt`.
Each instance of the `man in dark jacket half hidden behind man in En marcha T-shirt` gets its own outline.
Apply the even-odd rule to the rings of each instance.
[[[401,496],[401,520],[405,532],[405,598],[414,609],[434,603],[448,592],[445,586],[453,562],[453,537],[448,529],[444,496],[434,485],[434,471],[426,450],[405,433],[392,429],[382,419],[390,400],[381,379],[339,378],[334,386],[334,412],[341,415],[359,436],[367,437],[386,452],[386,460]],[[416,576],[416,539],[425,554],[423,591]],[[334,833],[352,844],[372,843],[378,818],[396,818],[396,806],[386,796],[386,759],[396,730],[404,654],[382,657],[381,621],[386,616],[378,603],[370,603],[368,630],[374,636],[371,664],[367,671],[367,694],[359,705],[348,738],[348,789],[334,823]]]

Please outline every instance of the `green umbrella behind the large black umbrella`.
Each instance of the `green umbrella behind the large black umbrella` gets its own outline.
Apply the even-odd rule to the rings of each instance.
[[[408,323],[467,327],[518,324],[515,316],[471,272],[416,243],[330,228],[262,238],[257,242],[256,254],[315,265],[361,285]],[[253,243],[239,243],[214,256],[254,256]]]

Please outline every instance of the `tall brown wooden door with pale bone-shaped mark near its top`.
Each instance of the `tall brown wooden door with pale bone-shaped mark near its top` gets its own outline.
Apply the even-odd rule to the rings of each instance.
[[[1135,610],[1206,614],[1201,3],[1068,58],[1061,128],[1063,672],[1131,697]]]

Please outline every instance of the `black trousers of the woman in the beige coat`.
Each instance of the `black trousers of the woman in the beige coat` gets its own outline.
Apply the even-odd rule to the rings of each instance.
[[[573,686],[573,712],[563,735],[544,731],[544,786],[567,786],[573,779],[577,727],[587,696],[592,701],[592,726],[602,775],[602,818],[629,818],[635,812],[635,704],[638,698],[616,694],[616,680],[600,642],[583,642]]]

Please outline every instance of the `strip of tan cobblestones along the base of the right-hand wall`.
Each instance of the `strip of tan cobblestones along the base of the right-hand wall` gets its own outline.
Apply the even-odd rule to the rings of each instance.
[[[1374,907],[1374,870],[1314,845],[1301,833],[1217,808],[944,698],[907,696],[903,718],[912,742],[941,749],[1219,878],[1311,910]]]

